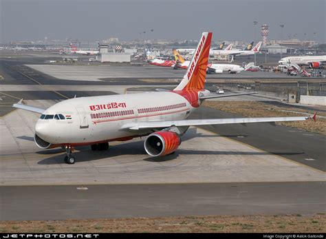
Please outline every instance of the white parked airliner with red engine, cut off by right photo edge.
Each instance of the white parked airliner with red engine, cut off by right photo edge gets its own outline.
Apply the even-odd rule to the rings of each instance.
[[[282,58],[279,63],[283,65],[296,63],[298,65],[309,65],[312,68],[319,68],[326,64],[326,56],[287,56]]]

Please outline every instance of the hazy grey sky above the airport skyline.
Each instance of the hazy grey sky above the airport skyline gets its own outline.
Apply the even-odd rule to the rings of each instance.
[[[325,42],[325,12],[326,0],[0,0],[0,41],[199,39],[203,31],[251,41],[258,21],[256,39],[267,23],[269,39],[280,39],[284,24],[283,39]]]

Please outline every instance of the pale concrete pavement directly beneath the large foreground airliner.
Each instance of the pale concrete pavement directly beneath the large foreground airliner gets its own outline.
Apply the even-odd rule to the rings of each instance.
[[[52,104],[32,102],[41,107]],[[152,158],[144,152],[144,138],[135,138],[111,143],[108,151],[77,147],[76,164],[67,165],[61,148],[41,150],[34,144],[37,118],[39,115],[23,110],[1,118],[0,185],[325,180],[322,171],[277,155],[282,153],[270,154],[195,127],[182,136],[182,144],[171,156]]]

